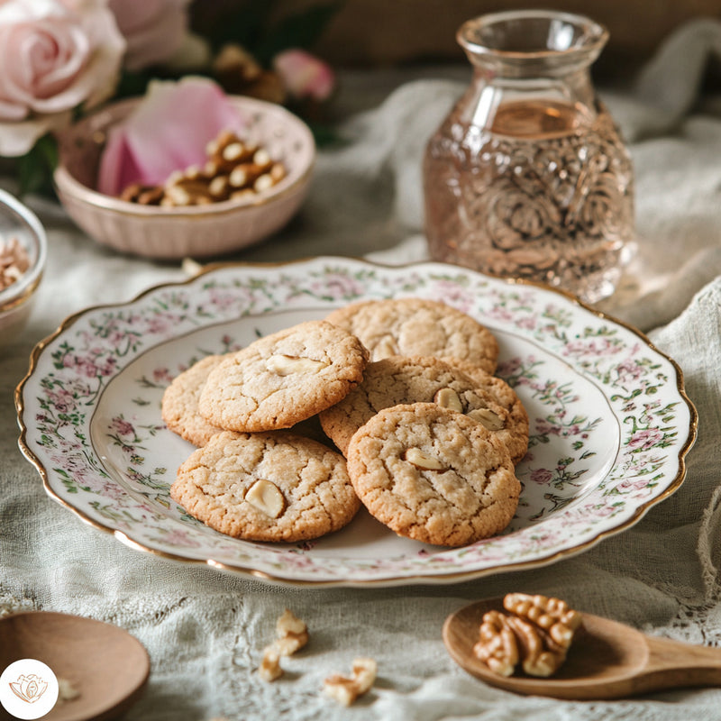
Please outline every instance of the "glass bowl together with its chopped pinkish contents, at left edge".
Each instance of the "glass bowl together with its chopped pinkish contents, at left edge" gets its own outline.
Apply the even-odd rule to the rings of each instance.
[[[47,252],[47,236],[37,216],[0,190],[0,352],[30,316]]]

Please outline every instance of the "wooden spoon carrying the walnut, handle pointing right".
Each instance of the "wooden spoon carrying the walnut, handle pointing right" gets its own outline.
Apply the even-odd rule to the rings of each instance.
[[[721,649],[642,634],[629,625],[583,614],[569,654],[550,679],[499,676],[479,661],[473,645],[483,614],[503,610],[493,598],[456,611],[443,625],[443,643],[452,659],[491,686],[552,698],[624,698],[648,691],[721,686]]]

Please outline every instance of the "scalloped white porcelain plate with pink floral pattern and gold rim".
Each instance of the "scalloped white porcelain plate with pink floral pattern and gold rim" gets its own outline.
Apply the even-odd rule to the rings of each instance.
[[[516,471],[523,491],[504,534],[434,547],[361,509],[314,542],[251,543],[169,497],[193,451],[160,418],[174,376],[352,301],[405,296],[443,300],[495,333],[497,373],[528,410],[529,450]],[[85,521],[163,557],[325,586],[456,582],[581,552],[680,487],[697,423],[676,364],[572,297],[450,265],[341,258],[215,266],[130,303],[89,308],[36,347],[15,403],[23,452],[50,496]]]

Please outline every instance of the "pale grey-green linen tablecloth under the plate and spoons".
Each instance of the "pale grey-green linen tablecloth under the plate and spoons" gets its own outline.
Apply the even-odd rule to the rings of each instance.
[[[721,646],[721,105],[698,94],[705,61],[719,47],[718,23],[693,23],[628,87],[601,88],[632,152],[638,229],[622,287],[601,305],[679,362],[698,408],[687,478],[641,522],[545,568],[390,589],[266,585],[127,548],[46,497],[17,447],[14,388],[33,344],[67,315],[129,300],[184,273],[179,264],[105,250],[57,205],[30,198],[50,253],[31,323],[0,351],[0,613],[48,609],[127,629],[151,656],[149,685],[128,714],[139,721],[721,718],[721,689],[616,702],[516,696],[461,671],[441,639],[444,618],[457,608],[524,590],[650,634]],[[424,259],[420,157],[468,72],[429,70],[353,114],[340,128],[347,142],[320,152],[297,219],[231,260]],[[370,107],[380,95],[377,81],[348,75],[339,102],[345,97],[355,107],[365,98]],[[10,178],[2,184],[14,189]],[[263,683],[260,650],[286,607],[306,621],[311,642],[285,662],[283,679]],[[379,679],[346,709],[324,695],[322,683],[350,671],[359,655],[377,660]]]

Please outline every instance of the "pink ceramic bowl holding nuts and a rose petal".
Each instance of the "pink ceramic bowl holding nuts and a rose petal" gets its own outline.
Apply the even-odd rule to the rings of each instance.
[[[306,197],[315,162],[313,134],[280,105],[242,96],[231,100],[249,118],[249,139],[286,166],[286,177],[269,190],[186,208],[138,205],[97,192],[106,132],[140,102],[133,98],[89,115],[61,136],[54,175],[60,202],[97,242],[148,258],[205,258],[268,238],[287,224]]]

